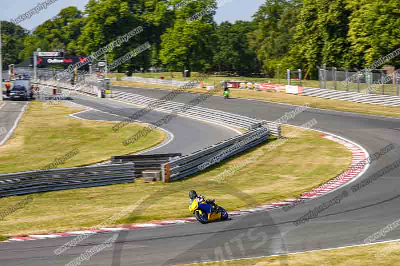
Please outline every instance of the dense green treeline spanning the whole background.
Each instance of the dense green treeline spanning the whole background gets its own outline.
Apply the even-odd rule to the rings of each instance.
[[[37,48],[89,55],[139,25],[144,32],[108,52],[109,60],[147,41],[152,47],[118,71],[163,67],[275,75],[280,65],[315,78],[317,66],[363,68],[400,48],[400,0],[265,0],[252,21],[219,25],[218,2],[90,0],[85,10],[64,8],[33,32],[3,22],[4,64],[28,59]],[[199,12],[200,18],[194,16]],[[198,19],[189,22],[191,17]],[[387,63],[400,67],[400,58]]]

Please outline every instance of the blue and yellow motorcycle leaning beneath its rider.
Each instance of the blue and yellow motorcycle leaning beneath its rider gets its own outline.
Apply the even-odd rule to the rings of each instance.
[[[212,205],[203,202],[197,202],[192,200],[190,203],[190,212],[192,212],[197,220],[202,223],[208,223],[212,221],[222,221],[228,219],[228,213],[222,207],[219,207],[218,212],[212,212]]]

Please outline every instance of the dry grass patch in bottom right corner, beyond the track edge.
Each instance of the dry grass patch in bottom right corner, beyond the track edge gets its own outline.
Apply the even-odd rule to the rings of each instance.
[[[284,258],[284,261],[287,261],[287,264],[285,264],[287,266],[397,266],[398,261],[400,260],[399,251],[400,243],[391,242],[328,251],[304,252],[288,255]],[[193,264],[192,266],[279,266],[281,265],[280,258],[280,256],[276,256],[259,259],[234,260],[229,262]]]

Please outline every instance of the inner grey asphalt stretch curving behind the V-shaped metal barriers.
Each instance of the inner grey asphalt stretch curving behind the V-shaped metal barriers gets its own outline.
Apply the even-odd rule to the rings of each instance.
[[[123,121],[127,117],[132,116],[135,112],[143,109],[143,107],[124,102],[98,99],[81,94],[72,95],[70,98],[71,99],[68,98],[66,100],[95,109],[95,111],[87,111],[77,115],[84,119]],[[152,111],[139,117],[137,120],[144,123],[152,123],[166,115],[168,115],[166,112]],[[161,128],[173,135],[172,140],[169,141],[167,145],[157,150],[143,154],[182,153],[186,155],[222,140],[237,136],[238,134],[226,127],[181,116],[177,116],[169,123],[162,125]],[[122,128],[120,130],[126,129]],[[124,139],[121,139],[121,142],[122,141],[124,141]]]

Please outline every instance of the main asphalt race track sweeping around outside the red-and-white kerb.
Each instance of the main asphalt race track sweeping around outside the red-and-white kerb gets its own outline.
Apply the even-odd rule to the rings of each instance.
[[[113,89],[153,98],[160,98],[168,93],[168,91],[138,88],[114,87]],[[174,101],[186,103],[197,96],[198,94],[184,93],[178,95]],[[80,104],[89,104],[84,99],[77,101]],[[114,105],[111,101],[104,100],[100,103],[95,101],[94,104],[96,109],[103,108],[102,111],[125,115],[128,113],[123,111],[124,108],[110,108],[109,105]],[[211,97],[201,106],[270,121],[296,108],[291,105],[255,100],[225,100],[221,97]],[[370,108],[373,108],[373,105]],[[362,145],[369,154],[388,144],[393,144],[395,149],[372,162],[364,175],[354,183],[306,201],[287,212],[275,209],[235,216],[230,221],[207,225],[194,222],[115,232],[114,234],[118,234],[118,239],[113,247],[95,254],[82,265],[174,265],[362,244],[365,238],[399,219],[399,168],[356,192],[350,187],[400,158],[400,120],[309,108],[287,123],[302,125],[311,119],[318,121],[313,128],[354,141]],[[249,204],[253,201],[251,195],[240,191],[240,188],[231,188],[231,191],[238,200]],[[308,211],[344,191],[347,191],[348,196],[340,203],[322,211],[316,218],[306,223],[298,226],[293,224]],[[163,196],[166,195],[154,195],[151,200],[162,200]],[[212,197],[212,195],[206,196]],[[223,202],[220,204],[223,206]],[[397,239],[399,235],[400,230],[396,228],[377,241]],[[53,250],[71,237],[0,243],[1,265],[65,265],[93,245],[104,243],[112,236],[113,233],[95,234],[59,256],[56,256]],[[286,263],[286,257],[283,257],[281,265]]]

